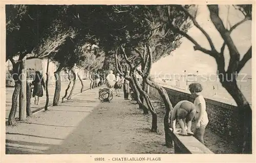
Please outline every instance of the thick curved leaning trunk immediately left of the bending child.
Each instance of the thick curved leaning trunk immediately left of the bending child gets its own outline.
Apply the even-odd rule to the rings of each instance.
[[[170,128],[170,113],[173,109],[173,105],[170,102],[169,96],[166,92],[166,90],[157,84],[156,82],[153,82],[146,78],[146,83],[150,85],[153,88],[156,88],[158,90],[159,95],[163,99],[164,105],[165,105],[165,115],[164,115],[164,132],[165,132],[165,145],[168,148],[173,147],[173,139],[169,136],[169,128]]]

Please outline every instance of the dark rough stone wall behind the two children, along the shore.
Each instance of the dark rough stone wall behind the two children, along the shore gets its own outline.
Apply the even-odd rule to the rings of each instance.
[[[175,106],[181,100],[188,100],[194,102],[190,94],[173,90],[164,87],[169,95],[170,102]],[[149,95],[152,98],[161,100],[158,91],[154,88],[150,88]],[[209,124],[208,128],[216,132],[223,138],[227,138],[230,141],[236,142],[241,137],[239,129],[239,115],[237,106],[221,103],[218,101],[205,99],[206,111],[208,113]]]

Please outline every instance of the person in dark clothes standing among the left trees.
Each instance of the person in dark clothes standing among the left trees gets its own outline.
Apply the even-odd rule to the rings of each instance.
[[[35,98],[35,102],[34,102],[35,105],[38,105],[39,97],[42,97],[44,95],[42,91],[42,87],[44,87],[44,89],[46,90],[45,82],[40,72],[38,71],[35,72],[35,78],[32,81],[32,84],[34,85],[32,97]]]

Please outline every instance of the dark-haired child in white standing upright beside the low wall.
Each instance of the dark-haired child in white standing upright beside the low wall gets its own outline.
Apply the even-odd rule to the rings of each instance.
[[[203,90],[202,85],[199,83],[191,83],[189,86],[189,91],[191,95],[195,97],[194,105],[196,106],[196,124],[194,127],[194,136],[204,144],[204,132],[205,128],[208,125],[208,115],[206,112],[206,103],[204,97],[201,95],[201,91]]]

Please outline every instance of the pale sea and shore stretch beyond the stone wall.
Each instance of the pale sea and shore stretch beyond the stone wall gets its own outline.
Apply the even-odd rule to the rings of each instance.
[[[173,75],[173,76],[158,76],[154,77],[154,80],[169,88],[173,88],[179,91],[187,92],[188,85],[194,82],[198,82],[202,85],[202,94],[205,98],[216,100],[231,105],[237,105],[233,98],[229,95],[228,91],[221,85],[217,75],[198,75],[198,74],[186,74],[186,75]],[[252,77],[251,75],[241,74],[237,75],[237,85],[242,91],[246,100],[251,104],[252,102]]]

